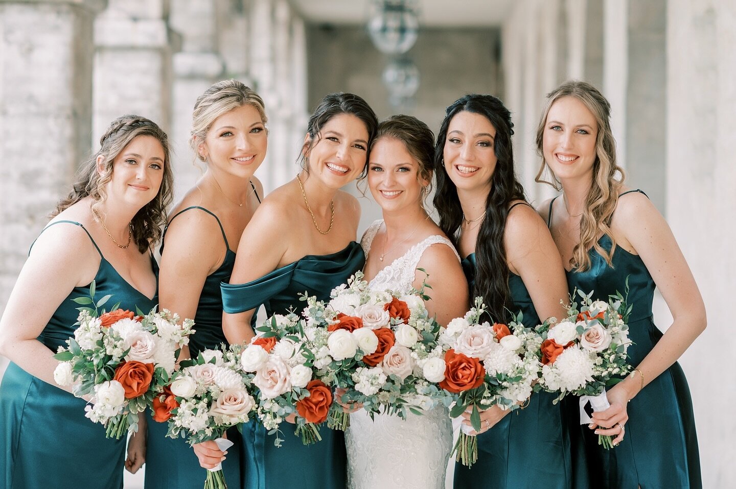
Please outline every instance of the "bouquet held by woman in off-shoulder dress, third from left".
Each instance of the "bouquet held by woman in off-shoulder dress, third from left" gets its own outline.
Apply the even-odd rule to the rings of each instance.
[[[316,375],[316,356],[303,321],[294,313],[276,314],[255,330],[255,338],[241,355],[240,368],[253,375],[258,418],[269,434],[275,434],[275,446],[281,446],[279,426],[289,415],[295,415],[294,434],[301,436],[302,443],[322,440],[319,426],[328,418],[333,395]]]

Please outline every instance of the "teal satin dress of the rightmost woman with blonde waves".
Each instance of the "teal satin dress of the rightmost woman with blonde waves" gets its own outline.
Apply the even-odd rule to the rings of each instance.
[[[641,190],[630,190],[641,192]],[[625,192],[621,196],[625,195]],[[641,192],[643,193],[643,192]],[[549,219],[552,217],[550,204]],[[598,241],[610,251],[611,239]],[[570,293],[575,288],[594,291],[593,299],[608,300],[617,291],[624,295],[629,277],[629,364],[638,365],[662,338],[652,320],[651,304],[656,284],[641,258],[620,246],[613,267],[595,249],[589,251],[591,266],[586,271],[567,272]],[[575,401],[577,399],[572,398]],[[577,402],[575,403],[577,406]],[[575,427],[571,438],[581,440],[593,488],[701,488],[700,459],[693,401],[679,363],[652,380],[626,406],[629,421],[619,446],[606,450],[587,426]],[[578,421],[573,419],[572,421]]]

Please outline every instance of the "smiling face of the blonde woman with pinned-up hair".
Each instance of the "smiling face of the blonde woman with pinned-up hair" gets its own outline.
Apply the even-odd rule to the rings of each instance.
[[[210,168],[248,178],[263,163],[267,146],[261,114],[243,105],[216,118],[198,150]]]

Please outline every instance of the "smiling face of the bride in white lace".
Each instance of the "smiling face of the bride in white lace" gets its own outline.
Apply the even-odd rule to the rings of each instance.
[[[421,207],[422,182],[419,163],[396,138],[384,137],[373,145],[368,163],[368,187],[384,212]]]

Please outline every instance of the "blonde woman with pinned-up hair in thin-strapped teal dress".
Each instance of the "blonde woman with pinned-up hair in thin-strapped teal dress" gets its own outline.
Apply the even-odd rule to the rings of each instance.
[[[227,343],[220,282],[230,280],[234,250],[263,195],[253,173],[266,156],[265,124],[261,97],[234,79],[212,85],[194,104],[190,144],[207,171],[172,212],[161,245],[159,282],[160,307],[195,321],[197,332],[183,357]],[[165,421],[148,421],[146,489],[201,489],[207,473],[198,457],[216,445],[208,441],[193,450],[185,438],[166,438]],[[238,429],[228,430],[227,438],[236,445],[222,470],[227,487],[240,489]]]

